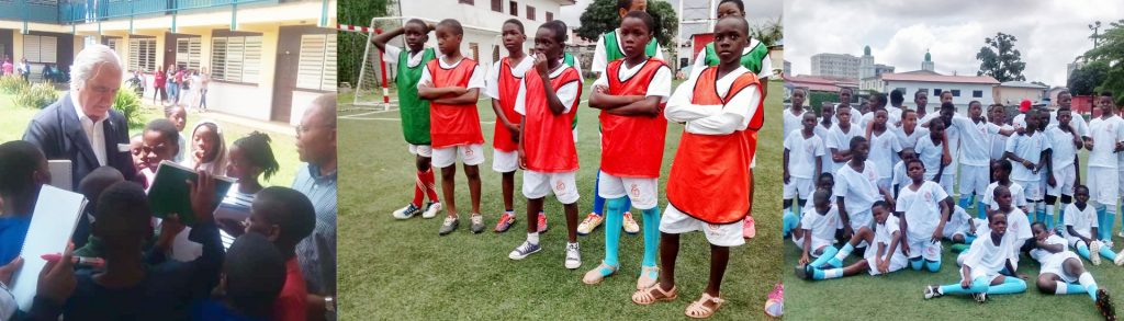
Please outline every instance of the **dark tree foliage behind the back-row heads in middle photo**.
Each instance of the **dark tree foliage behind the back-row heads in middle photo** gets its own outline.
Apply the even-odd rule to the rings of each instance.
[[[679,16],[671,3],[664,1],[647,1],[647,13],[660,25],[655,38],[663,47],[673,47],[672,40],[679,30]],[[586,39],[597,39],[605,33],[620,27],[620,16],[617,12],[617,0],[593,0],[586,7],[586,12],[579,18],[581,27],[578,36]]]

